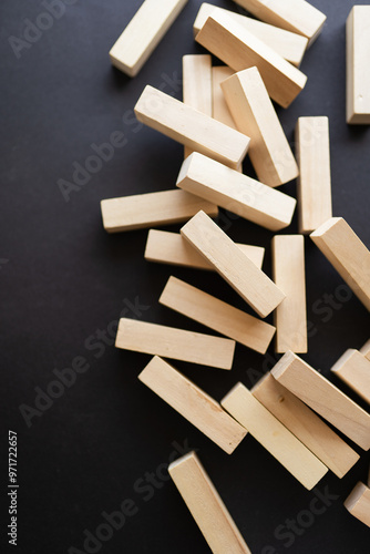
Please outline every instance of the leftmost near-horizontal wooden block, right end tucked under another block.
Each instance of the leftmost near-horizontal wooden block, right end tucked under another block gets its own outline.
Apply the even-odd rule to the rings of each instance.
[[[218,215],[215,204],[178,189],[109,198],[101,202],[101,208],[107,233],[183,223],[199,209],[212,217]]]

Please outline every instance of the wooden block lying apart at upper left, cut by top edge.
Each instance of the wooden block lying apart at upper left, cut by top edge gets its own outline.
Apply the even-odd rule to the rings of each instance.
[[[110,51],[113,65],[135,76],[187,0],[145,0]]]

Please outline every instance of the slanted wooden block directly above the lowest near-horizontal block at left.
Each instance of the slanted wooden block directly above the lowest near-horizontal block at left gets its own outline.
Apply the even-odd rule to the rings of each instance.
[[[275,335],[275,327],[271,325],[176,277],[169,277],[160,304],[260,353],[266,352]]]

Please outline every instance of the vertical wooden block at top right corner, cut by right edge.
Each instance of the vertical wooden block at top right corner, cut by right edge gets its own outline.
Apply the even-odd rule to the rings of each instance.
[[[347,19],[347,123],[370,123],[370,6],[353,6]]]

